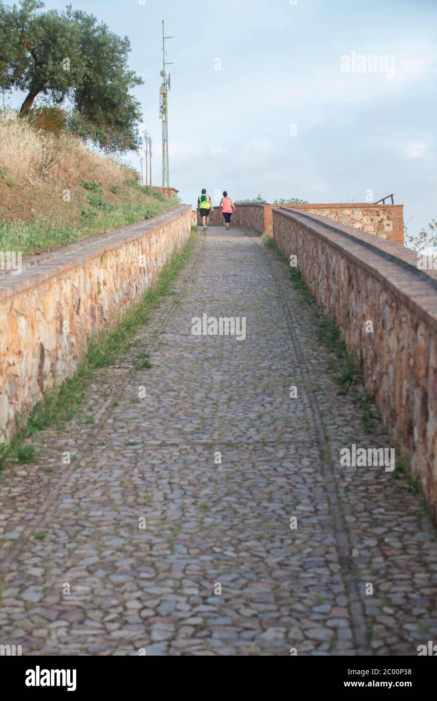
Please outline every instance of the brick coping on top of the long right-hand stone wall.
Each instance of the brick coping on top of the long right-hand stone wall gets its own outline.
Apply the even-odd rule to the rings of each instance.
[[[415,252],[375,238],[367,231],[356,233],[347,224],[333,226],[328,217],[304,214],[288,207],[275,210],[275,216],[294,219],[321,236],[354,264],[381,280],[405,306],[437,331],[437,271],[419,270]]]

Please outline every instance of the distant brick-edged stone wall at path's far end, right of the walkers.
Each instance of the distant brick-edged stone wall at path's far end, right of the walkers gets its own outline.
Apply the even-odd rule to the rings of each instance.
[[[335,219],[340,224],[350,224],[354,229],[372,233],[378,238],[385,238],[403,245],[403,205],[359,204],[306,204],[306,205],[236,205],[232,222],[246,226],[259,233],[273,236],[273,210],[288,207],[293,210],[308,212]],[[263,211],[264,221],[260,210]],[[210,226],[222,226],[223,217],[217,207],[210,217]]]

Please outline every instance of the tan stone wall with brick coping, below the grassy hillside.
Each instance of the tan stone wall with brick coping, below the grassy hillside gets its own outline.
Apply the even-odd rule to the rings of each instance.
[[[152,285],[191,231],[191,206],[25,259],[0,279],[0,442],[48,388],[74,374],[87,339]]]

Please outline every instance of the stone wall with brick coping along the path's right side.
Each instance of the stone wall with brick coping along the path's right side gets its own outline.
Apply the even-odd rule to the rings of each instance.
[[[414,252],[326,217],[277,209],[273,224],[437,512],[437,271],[419,271]]]

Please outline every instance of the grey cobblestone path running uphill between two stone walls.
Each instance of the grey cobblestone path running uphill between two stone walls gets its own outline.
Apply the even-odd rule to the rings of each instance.
[[[246,339],[192,335],[203,313],[246,317]],[[37,463],[4,475],[2,644],[417,655],[437,640],[435,531],[396,469],[340,467],[342,447],[389,442],[337,395],[287,264],[247,232],[199,232],[136,342],[62,433],[39,433]]]

